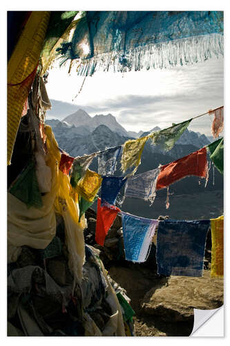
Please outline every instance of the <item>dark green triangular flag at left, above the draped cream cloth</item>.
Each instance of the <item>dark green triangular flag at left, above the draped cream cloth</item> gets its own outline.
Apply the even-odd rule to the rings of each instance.
[[[19,174],[9,191],[17,199],[26,203],[28,208],[41,208],[43,206],[34,161],[28,163],[28,166]]]

